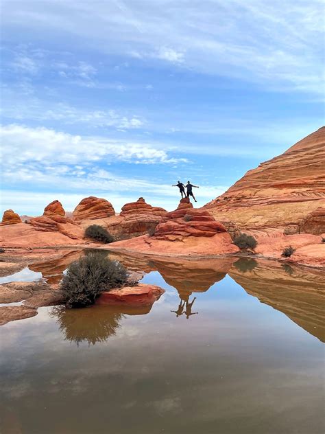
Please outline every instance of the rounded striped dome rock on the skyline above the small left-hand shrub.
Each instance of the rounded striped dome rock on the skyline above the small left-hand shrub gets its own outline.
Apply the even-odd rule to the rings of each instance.
[[[115,216],[115,210],[112,204],[104,198],[90,196],[82,199],[73,211],[73,220],[80,222],[82,220],[96,220]]]

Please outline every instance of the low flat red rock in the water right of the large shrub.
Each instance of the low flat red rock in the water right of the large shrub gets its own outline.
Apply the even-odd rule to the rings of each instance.
[[[147,306],[153,304],[163,293],[165,290],[155,285],[125,286],[101,293],[96,303],[111,306]]]

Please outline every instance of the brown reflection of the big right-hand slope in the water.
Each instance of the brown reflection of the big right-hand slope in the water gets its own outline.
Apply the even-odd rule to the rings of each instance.
[[[304,330],[325,341],[324,271],[258,261],[254,269],[244,273],[234,264],[229,275],[248,294],[283,312]]]

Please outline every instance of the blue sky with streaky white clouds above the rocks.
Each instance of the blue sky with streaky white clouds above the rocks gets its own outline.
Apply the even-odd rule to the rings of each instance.
[[[197,205],[324,124],[318,0],[3,0],[1,212]]]

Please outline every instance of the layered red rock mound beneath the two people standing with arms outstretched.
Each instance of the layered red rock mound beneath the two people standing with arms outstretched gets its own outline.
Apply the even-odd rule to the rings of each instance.
[[[227,229],[208,211],[195,208],[178,208],[169,212],[154,232],[156,240],[182,240],[184,237],[213,237]]]

